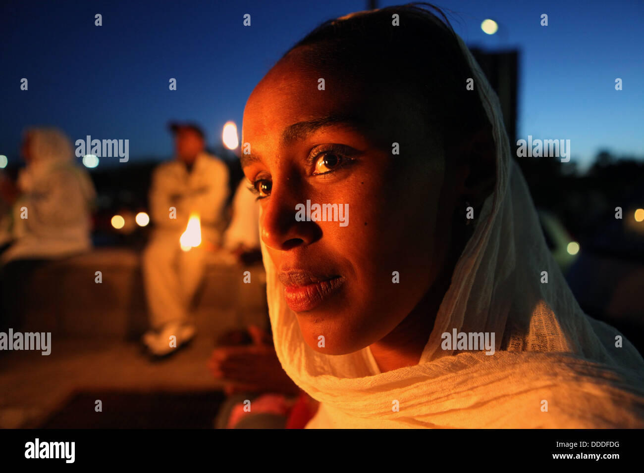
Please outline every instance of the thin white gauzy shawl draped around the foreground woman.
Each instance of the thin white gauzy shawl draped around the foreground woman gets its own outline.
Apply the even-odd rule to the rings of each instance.
[[[368,348],[338,356],[309,348],[261,245],[278,358],[321,402],[307,427],[644,427],[644,360],[627,339],[618,346],[621,333],[576,302],[511,160],[497,95],[459,43],[493,127],[497,182],[419,364],[379,373]],[[542,271],[548,283],[541,283]],[[494,332],[494,355],[444,351],[441,335],[453,329]]]

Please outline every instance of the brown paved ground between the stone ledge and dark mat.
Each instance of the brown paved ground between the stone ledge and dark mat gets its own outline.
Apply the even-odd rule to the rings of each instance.
[[[220,388],[206,368],[213,339],[151,363],[135,342],[52,340],[52,353],[0,352],[0,428],[38,427],[77,391],[207,391]]]

